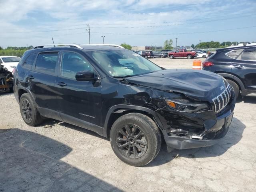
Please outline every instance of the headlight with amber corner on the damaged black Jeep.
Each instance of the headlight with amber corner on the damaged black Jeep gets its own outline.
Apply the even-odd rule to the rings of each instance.
[[[206,103],[191,103],[188,100],[165,100],[166,104],[180,112],[199,112],[210,110],[210,106]]]

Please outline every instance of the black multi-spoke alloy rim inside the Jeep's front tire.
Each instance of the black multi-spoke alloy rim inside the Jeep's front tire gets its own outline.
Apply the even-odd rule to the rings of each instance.
[[[144,132],[134,124],[126,124],[119,128],[116,144],[122,154],[132,159],[143,156],[148,147]]]

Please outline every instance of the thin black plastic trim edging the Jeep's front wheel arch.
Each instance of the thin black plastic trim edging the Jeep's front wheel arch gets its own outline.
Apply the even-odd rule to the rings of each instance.
[[[102,136],[107,137],[107,133],[109,131],[107,128],[108,128],[108,121],[109,121],[110,115],[114,113],[116,110],[120,110],[120,109],[130,109],[130,110],[139,110],[139,111],[147,112],[155,118],[158,126],[160,126],[160,129],[162,130],[163,128],[163,125],[161,121],[158,119],[156,112],[154,112],[149,108],[142,107],[142,106],[135,106],[135,105],[114,105],[108,110],[108,113],[106,115],[104,127],[102,128]]]

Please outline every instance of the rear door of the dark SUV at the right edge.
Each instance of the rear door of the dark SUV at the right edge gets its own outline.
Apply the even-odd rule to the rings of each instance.
[[[256,48],[246,48],[232,61],[232,72],[248,90],[256,90]]]

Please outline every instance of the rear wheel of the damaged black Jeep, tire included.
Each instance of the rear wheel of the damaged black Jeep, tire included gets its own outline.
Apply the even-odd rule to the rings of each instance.
[[[28,93],[24,93],[20,97],[20,114],[24,122],[30,126],[36,126],[43,121],[36,108],[36,103]]]

